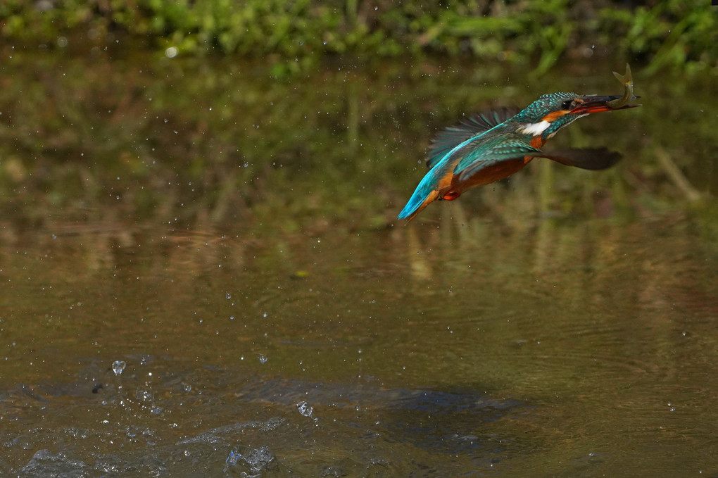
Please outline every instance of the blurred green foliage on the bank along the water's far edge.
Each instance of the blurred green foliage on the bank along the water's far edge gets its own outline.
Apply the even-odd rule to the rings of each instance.
[[[714,67],[718,9],[705,0],[393,2],[309,0],[5,0],[0,37],[55,44],[86,36],[267,57],[278,72],[325,55],[470,55],[531,62],[546,72],[562,56],[620,56],[651,70]],[[309,60],[307,60],[309,59]],[[295,62],[296,65],[291,65]]]

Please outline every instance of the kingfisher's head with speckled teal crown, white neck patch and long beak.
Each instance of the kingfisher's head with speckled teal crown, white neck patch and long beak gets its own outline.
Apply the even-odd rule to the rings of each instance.
[[[612,108],[608,103],[620,96],[577,95],[576,93],[552,93],[543,95],[527,106],[512,120],[520,124],[516,131],[549,139],[559,129],[572,121],[600,111],[624,110],[640,105],[623,105]]]

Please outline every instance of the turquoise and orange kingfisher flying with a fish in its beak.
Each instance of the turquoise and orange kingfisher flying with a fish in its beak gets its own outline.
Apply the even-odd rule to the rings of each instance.
[[[630,78],[630,70],[626,77]],[[623,97],[552,93],[541,96],[522,111],[518,108],[488,110],[446,128],[432,142],[426,159],[429,172],[398,218],[409,222],[431,202],[455,200],[468,189],[518,172],[537,157],[582,169],[611,167],[620,159],[620,154],[605,148],[548,152],[541,147],[556,136],[559,129],[578,118],[640,106],[627,104],[640,98],[633,96],[632,81],[629,95],[628,83],[627,80]]]

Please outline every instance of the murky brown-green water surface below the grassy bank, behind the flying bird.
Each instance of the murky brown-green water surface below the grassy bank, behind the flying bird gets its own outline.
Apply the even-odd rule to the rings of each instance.
[[[405,227],[430,131],[616,66],[12,61],[3,476],[717,476],[710,79],[636,65],[643,108],[556,139],[618,167],[538,161]]]

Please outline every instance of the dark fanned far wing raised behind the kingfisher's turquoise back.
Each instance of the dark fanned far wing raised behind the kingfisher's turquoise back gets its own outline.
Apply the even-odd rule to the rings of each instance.
[[[429,147],[426,167],[432,169],[449,151],[467,139],[498,126],[518,113],[518,108],[494,108],[470,116],[455,126],[449,126],[434,138]]]

